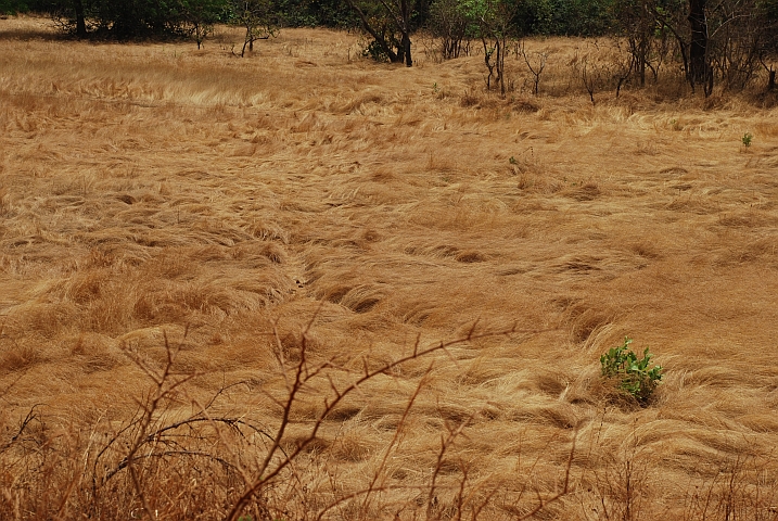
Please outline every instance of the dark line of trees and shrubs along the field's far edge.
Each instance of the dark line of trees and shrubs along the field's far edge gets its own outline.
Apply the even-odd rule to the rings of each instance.
[[[714,84],[743,89],[763,73],[775,90],[778,61],[778,0],[0,0],[0,11],[48,13],[80,38],[188,37],[197,47],[216,24],[232,24],[245,30],[241,55],[280,27],[359,28],[365,55],[407,66],[421,29],[441,59],[483,52],[486,87],[502,94],[506,56],[519,56],[521,38],[607,35],[620,48],[614,59],[576,72],[592,102],[600,77],[617,94],[656,82],[661,69],[706,96]],[[535,68],[522,58],[537,93],[546,56],[533,56]]]

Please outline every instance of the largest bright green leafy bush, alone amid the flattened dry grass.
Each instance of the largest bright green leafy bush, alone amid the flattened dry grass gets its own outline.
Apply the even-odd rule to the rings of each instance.
[[[632,343],[633,340],[625,336],[621,346],[611,347],[600,357],[602,377],[617,379],[618,389],[645,405],[662,380],[662,366],[649,368],[649,348],[646,347],[643,357],[638,358],[638,355],[629,350]]]

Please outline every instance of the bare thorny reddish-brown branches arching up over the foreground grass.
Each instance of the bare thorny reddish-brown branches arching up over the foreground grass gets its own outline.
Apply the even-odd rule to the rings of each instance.
[[[215,396],[203,405],[199,405],[195,399],[190,398],[189,403],[195,405],[199,410],[189,417],[171,422],[161,422],[158,412],[164,409],[166,403],[170,401],[180,401],[180,395],[187,396],[184,385],[196,374],[182,374],[175,371],[176,358],[181,350],[181,345],[171,345],[167,335],[165,335],[166,359],[158,368],[151,366],[138,354],[132,353],[129,350],[125,350],[125,353],[130,360],[153,382],[153,386],[144,398],[138,401],[138,409],[132,416],[132,419],[118,429],[118,431],[116,431],[107,440],[107,442],[95,455],[92,461],[93,495],[97,496],[100,488],[119,472],[127,471],[135,492],[135,497],[141,504],[141,509],[145,512],[145,514],[153,519],[153,512],[155,512],[155,510],[145,495],[148,487],[144,485],[143,481],[145,479],[144,472],[146,471],[144,470],[145,467],[141,466],[141,463],[151,460],[165,461],[171,458],[174,460],[176,458],[204,459],[242,476],[244,490],[235,499],[231,501],[232,506],[226,517],[227,520],[235,521],[241,516],[243,509],[248,506],[250,501],[252,501],[252,499],[259,495],[263,491],[268,490],[282,472],[285,472],[286,470],[294,471],[293,462],[298,459],[306,447],[316,440],[320,429],[324,424],[327,418],[331,415],[331,412],[333,412],[335,407],[342,403],[344,397],[354,391],[357,391],[360,385],[367,381],[374,379],[380,374],[392,374],[395,369],[408,361],[417,360],[421,357],[431,356],[436,353],[445,354],[456,363],[456,358],[449,352],[449,348],[467,342],[511,335],[515,333],[541,332],[537,330],[519,330],[515,327],[500,331],[479,332],[479,322],[476,321],[462,336],[456,340],[445,342],[442,341],[429,346],[423,346],[421,339],[417,338],[412,348],[405,356],[390,363],[381,364],[378,367],[371,367],[370,359],[368,357],[361,357],[361,369],[358,370],[356,378],[350,383],[339,385],[336,380],[333,379],[333,371],[348,373],[349,370],[344,365],[336,363],[335,359],[328,359],[322,363],[311,361],[308,335],[315,318],[316,317],[311,319],[310,323],[302,332],[299,339],[299,351],[298,353],[295,353],[296,355],[298,354],[298,358],[296,358],[294,363],[290,363],[285,358],[278,330],[276,328],[273,330],[276,342],[278,344],[278,348],[273,350],[273,353],[279,367],[281,368],[281,376],[285,383],[286,391],[284,398],[275,398],[270,396],[270,393],[267,393],[281,409],[279,424],[272,433],[242,417],[217,416],[209,412],[209,409],[216,402],[217,397],[232,385],[224,385],[215,394]],[[377,494],[382,494],[391,490],[419,488],[419,485],[408,486],[400,484],[387,484],[383,481],[383,476],[390,456],[398,449],[403,442],[405,424],[407,423],[418,396],[420,395],[422,389],[428,384],[428,377],[431,374],[432,367],[433,366],[431,364],[428,371],[424,372],[424,376],[417,383],[414,391],[410,395],[403,416],[397,424],[394,436],[384,449],[380,465],[374,470],[369,485],[364,490],[346,494],[343,497],[334,497],[333,501],[330,503],[329,506],[319,509],[317,519],[323,519],[328,511],[331,511],[333,508],[336,508],[339,505],[342,505],[349,499],[358,499],[361,503],[362,511],[367,512],[370,510],[371,503],[374,500],[374,496]],[[293,449],[285,448],[289,441],[286,432],[292,423],[291,418],[293,407],[301,402],[301,394],[314,383],[314,380],[321,381],[321,379],[328,383],[330,390],[329,396],[323,401],[322,409],[313,420],[313,425],[302,441],[297,442]],[[450,485],[439,485],[437,483],[438,474],[443,468],[444,458],[446,458],[447,453],[450,452],[455,440],[462,435],[464,429],[470,424],[474,416],[474,414],[471,415],[468,419],[457,425],[446,423],[447,432],[441,439],[441,448],[437,455],[437,461],[433,475],[431,476],[431,482],[422,485],[423,488],[429,492],[426,511],[428,519],[435,519],[436,516],[436,512],[433,511],[433,507],[436,503],[436,491],[439,488],[451,488]],[[218,436],[222,435],[222,429],[219,429],[219,427],[222,427],[227,429],[225,432],[230,431],[241,437],[245,437],[245,432],[248,431],[266,439],[268,442],[266,447],[263,449],[264,455],[255,470],[250,471],[246,467],[240,463],[240,461],[235,459],[240,457],[238,453],[234,453],[229,457],[222,457],[213,450],[203,450],[189,443],[191,441],[207,441],[208,435],[202,431],[202,429],[206,427],[214,428]],[[184,429],[189,430],[182,431]],[[128,441],[125,442],[125,440]],[[211,437],[211,440],[213,440],[213,437]],[[230,450],[234,450],[233,448],[230,448],[230,444],[226,439],[222,437],[221,440],[222,445],[228,448],[228,454]],[[107,452],[111,450],[112,447],[118,446],[119,442],[126,443],[126,453],[118,462],[102,473],[102,478],[99,478],[99,462],[105,458]],[[468,484],[469,469],[461,467],[461,471],[463,478],[458,484],[458,492],[455,492],[457,508],[460,510],[459,517],[461,518],[461,510],[467,508],[467,505],[471,505],[472,514],[474,516],[473,519],[475,519],[479,514],[477,512],[484,508],[495,492],[493,491],[490,494],[488,491],[486,494],[477,493],[476,491],[480,490],[477,486],[470,487]],[[569,474],[570,466],[566,471],[562,491],[551,498],[540,500],[534,512],[541,510],[546,505],[559,499],[567,493]],[[296,476],[296,473],[294,475]],[[301,481],[301,478],[296,476],[296,480]],[[476,497],[476,493],[479,499],[475,499],[475,504],[473,504],[473,498]],[[262,509],[264,507],[259,508]]]

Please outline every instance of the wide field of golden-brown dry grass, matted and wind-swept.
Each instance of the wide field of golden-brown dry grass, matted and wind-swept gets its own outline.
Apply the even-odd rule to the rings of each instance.
[[[538,517],[778,517],[775,109],[592,106],[581,40],[500,100],[345,33],[48,30],[0,21],[2,519],[518,519],[565,475]],[[625,335],[646,408],[599,379]],[[264,486],[301,366],[270,468],[319,431]]]

